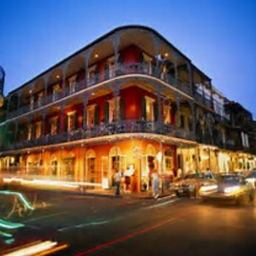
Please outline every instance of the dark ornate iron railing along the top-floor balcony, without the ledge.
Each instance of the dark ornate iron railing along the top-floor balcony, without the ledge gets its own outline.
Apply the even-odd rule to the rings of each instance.
[[[172,75],[164,73],[162,68],[156,66],[149,66],[145,63],[124,63],[118,64],[115,67],[111,67],[111,69],[106,69],[103,73],[94,74],[90,78],[86,79],[86,81],[81,81],[76,83],[74,86],[74,90],[70,91],[69,87],[65,87],[64,91],[59,91],[54,94],[47,95],[41,99],[40,104],[35,102],[32,106],[23,106],[18,110],[7,113],[7,118],[14,118],[16,116],[28,113],[31,110],[35,110],[47,103],[52,103],[54,101],[60,100],[62,98],[67,97],[68,95],[74,94],[80,90],[85,89],[86,87],[91,87],[99,82],[107,81],[108,79],[118,77],[121,75],[128,74],[144,74],[153,76],[161,79],[162,81],[172,85],[173,87],[179,89],[182,92],[185,92],[191,95],[191,87],[186,83],[182,83],[175,79]]]

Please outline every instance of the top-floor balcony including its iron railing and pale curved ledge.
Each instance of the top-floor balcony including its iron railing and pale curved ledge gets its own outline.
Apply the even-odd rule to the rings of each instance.
[[[110,68],[106,68],[101,72],[95,72],[88,76],[86,79],[78,80],[72,84],[68,84],[65,87],[58,86],[57,90],[53,90],[49,95],[41,95],[41,97],[31,96],[27,99],[26,106],[22,106],[13,111],[7,112],[7,119],[11,119],[30,111],[47,107],[54,102],[65,100],[67,97],[71,97],[73,94],[84,92],[86,89],[93,90],[93,86],[99,83],[110,81],[118,78],[125,78],[126,75],[134,76],[147,76],[154,77],[160,81],[173,86],[180,92],[191,95],[191,86],[187,83],[181,82],[176,79],[169,70],[163,69],[163,67],[154,66],[149,63],[132,62],[132,63],[117,63]],[[129,76],[130,77],[130,76]]]

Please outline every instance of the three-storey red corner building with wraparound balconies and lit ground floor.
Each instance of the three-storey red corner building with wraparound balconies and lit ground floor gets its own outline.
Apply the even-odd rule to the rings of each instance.
[[[141,191],[154,169],[234,171],[227,102],[155,30],[119,27],[9,92],[1,172],[108,188],[129,169]]]

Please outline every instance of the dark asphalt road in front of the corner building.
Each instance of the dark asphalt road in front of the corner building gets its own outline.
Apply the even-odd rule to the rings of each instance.
[[[37,198],[37,209],[11,217],[25,224],[17,241],[42,236],[67,243],[59,255],[255,255],[255,202],[26,194]]]

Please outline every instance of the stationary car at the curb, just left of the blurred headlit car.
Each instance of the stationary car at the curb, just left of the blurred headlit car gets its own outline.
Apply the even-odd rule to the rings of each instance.
[[[196,197],[199,195],[199,189],[201,187],[213,186],[215,184],[217,184],[217,180],[213,173],[196,172],[187,174],[184,178],[173,182],[171,185],[171,191],[177,196],[186,194],[190,197]]]

